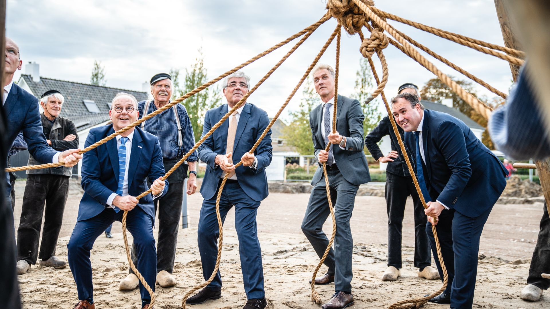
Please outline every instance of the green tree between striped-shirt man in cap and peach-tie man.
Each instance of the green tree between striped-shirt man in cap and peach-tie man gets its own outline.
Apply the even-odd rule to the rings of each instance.
[[[180,85],[179,69],[171,69],[170,75],[172,76],[173,95],[172,99],[181,97],[185,93],[194,90],[195,88],[205,84],[208,81],[207,69],[204,67],[204,56],[202,56],[202,47],[199,48],[200,56],[195,58],[195,63],[191,65],[190,69],[185,68],[185,79],[183,86]],[[202,134],[202,124],[204,123],[204,117],[208,109],[219,106],[222,102],[221,89],[206,88],[195,95],[186,98],[182,102],[183,106],[187,109],[187,114],[191,120],[191,126],[193,126],[193,133],[195,134],[195,141],[200,140]]]

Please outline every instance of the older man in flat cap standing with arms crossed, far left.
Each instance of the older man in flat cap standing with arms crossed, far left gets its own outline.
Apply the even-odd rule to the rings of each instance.
[[[40,114],[46,142],[57,151],[78,147],[78,134],[72,121],[61,117],[65,98],[57,90],[46,91],[40,99]],[[40,164],[32,156],[29,165]],[[17,230],[17,272],[24,274],[40,258],[40,266],[65,268],[65,261],[56,257],[57,237],[63,223],[63,211],[69,195],[72,167],[50,167],[27,170],[23,208]],[[38,241],[44,213],[44,230],[38,256]]]

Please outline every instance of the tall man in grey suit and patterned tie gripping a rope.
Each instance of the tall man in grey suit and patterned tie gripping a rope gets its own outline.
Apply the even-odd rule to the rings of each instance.
[[[334,250],[331,249],[324,260],[328,272],[316,278],[315,283],[334,282],[335,293],[322,308],[341,309],[353,305],[353,295],[351,295],[353,239],[349,220],[355,203],[355,194],[360,184],[371,181],[363,152],[365,115],[359,101],[338,95],[336,133],[332,133],[334,70],[329,65],[317,64],[312,70],[312,75],[315,90],[322,101],[310,113],[313,147],[315,147],[315,157],[320,168],[317,169],[311,181],[313,189],[302,222],[302,231],[317,255],[322,257],[328,246],[328,238],[322,228],[330,214],[322,168],[323,162],[327,162],[328,183],[336,218],[336,235]],[[332,145],[327,152],[324,150],[328,142]]]

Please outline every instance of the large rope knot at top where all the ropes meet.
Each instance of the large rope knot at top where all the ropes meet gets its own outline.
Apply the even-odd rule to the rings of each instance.
[[[374,5],[372,0],[360,0],[367,5]],[[361,27],[368,21],[365,12],[361,10],[352,0],[328,0],[328,15],[338,20],[350,35],[361,31]]]

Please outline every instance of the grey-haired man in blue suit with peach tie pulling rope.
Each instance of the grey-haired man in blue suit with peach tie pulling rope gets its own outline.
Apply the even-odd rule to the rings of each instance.
[[[205,115],[202,136],[233,108],[250,89],[250,76],[241,71],[223,79],[223,94],[227,104],[212,108]],[[270,123],[267,113],[250,103],[244,103],[219,128],[199,146],[199,158],[208,164],[201,185],[204,198],[199,219],[199,251],[202,275],[210,278],[216,266],[219,236],[216,217],[216,198],[219,185],[229,173],[219,202],[222,220],[235,206],[235,229],[239,238],[241,270],[246,297],[244,309],[263,309],[267,306],[263,290],[263,267],[260,241],[257,236],[256,212],[260,202],[267,197],[265,168],[271,163],[271,130],[260,142],[253,154],[248,153]],[[233,160],[235,158],[235,160]],[[233,163],[243,161],[235,168]],[[216,277],[186,303],[202,304],[221,297],[222,278]]]

